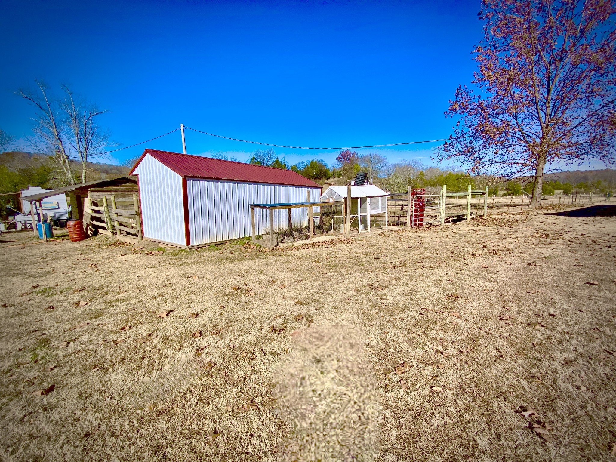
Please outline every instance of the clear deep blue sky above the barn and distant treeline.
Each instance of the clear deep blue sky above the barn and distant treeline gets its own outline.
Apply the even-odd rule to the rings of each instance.
[[[180,123],[282,145],[356,146],[446,138],[444,116],[475,70],[479,1],[30,1],[0,6],[0,128],[30,134],[14,91],[68,83],[111,111],[119,147]],[[187,131],[191,154],[245,160],[258,145]],[[374,149],[431,164],[438,143]],[[179,132],[145,147],[181,152]],[[275,148],[297,162],[337,152]],[[370,150],[363,150],[367,152]]]

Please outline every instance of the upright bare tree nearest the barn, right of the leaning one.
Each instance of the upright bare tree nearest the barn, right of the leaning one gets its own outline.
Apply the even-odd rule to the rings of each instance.
[[[100,110],[95,104],[77,97],[66,85],[62,89],[65,97],[60,107],[65,113],[65,123],[71,134],[68,143],[81,163],[81,182],[85,183],[87,163],[101,156],[106,147],[116,145],[110,142],[109,131],[97,123],[98,117],[108,111]]]

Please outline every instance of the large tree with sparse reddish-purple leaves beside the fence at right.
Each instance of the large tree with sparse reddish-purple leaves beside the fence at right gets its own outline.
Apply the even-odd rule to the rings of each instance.
[[[484,0],[476,91],[456,90],[460,116],[440,160],[508,178],[590,161],[613,164],[616,6],[609,0]]]

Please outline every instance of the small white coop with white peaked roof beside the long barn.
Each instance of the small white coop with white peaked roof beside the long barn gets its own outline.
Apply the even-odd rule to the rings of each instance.
[[[347,198],[347,188],[347,186],[330,186],[320,200],[344,200]],[[370,216],[377,213],[384,213],[387,223],[387,193],[372,184],[351,186],[351,221],[357,219],[357,229],[370,231]]]

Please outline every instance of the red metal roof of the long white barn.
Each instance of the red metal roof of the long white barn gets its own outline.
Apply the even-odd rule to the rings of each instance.
[[[182,177],[321,188],[321,185],[292,170],[153,149],[144,151],[132,168],[131,174],[146,154],[151,155]]]

